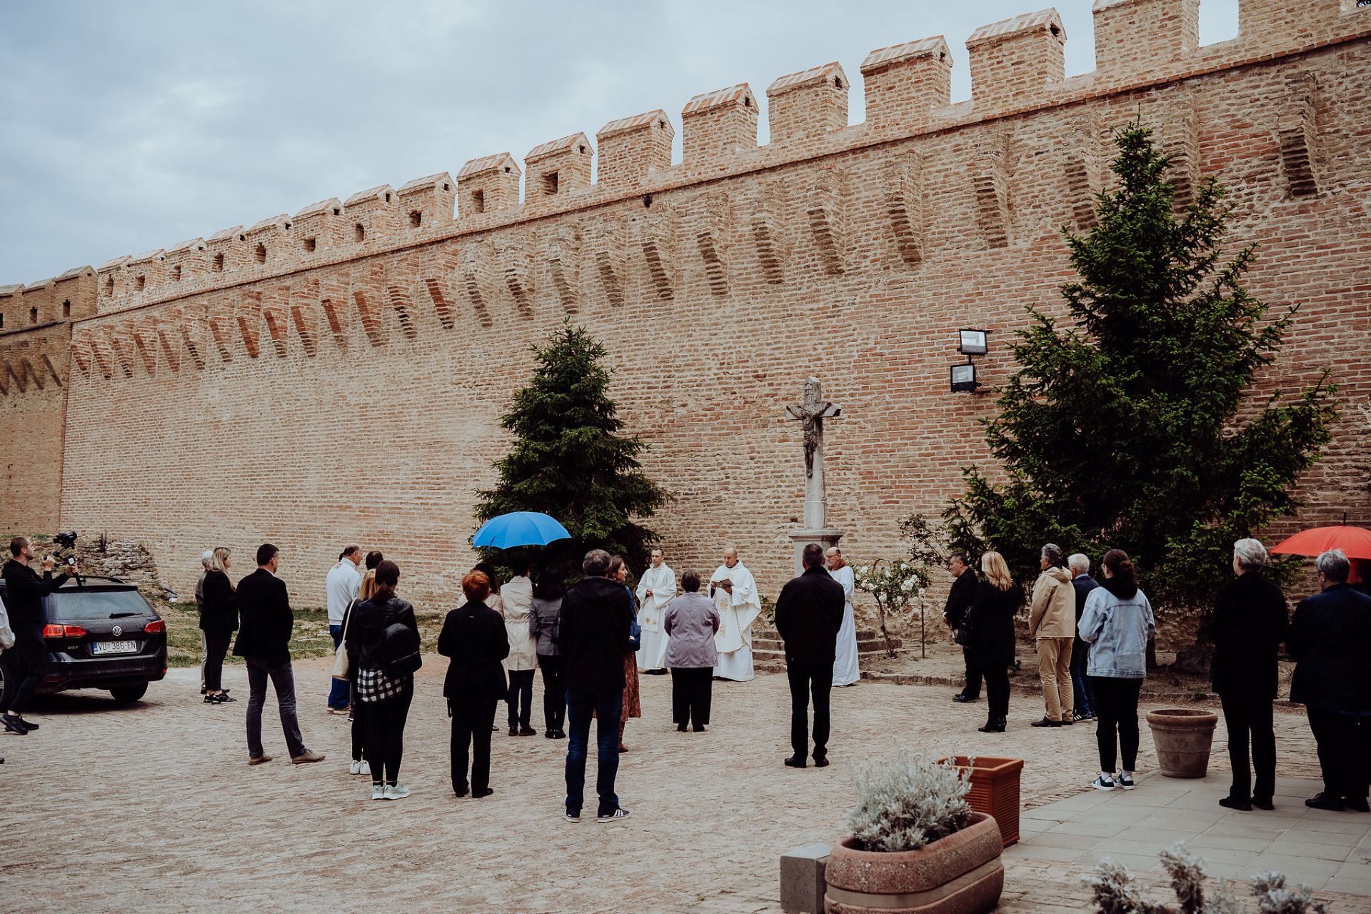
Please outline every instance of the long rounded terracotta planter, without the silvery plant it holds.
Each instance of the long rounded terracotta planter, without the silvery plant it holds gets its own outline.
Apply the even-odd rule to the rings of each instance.
[[[860,851],[835,844],[824,878],[825,914],[982,914],[1005,888],[995,819],[972,813],[960,832],[917,851]]]

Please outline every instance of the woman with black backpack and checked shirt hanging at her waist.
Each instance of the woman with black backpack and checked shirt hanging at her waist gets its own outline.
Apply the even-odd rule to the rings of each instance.
[[[381,562],[376,593],[352,607],[351,640],[356,643],[356,692],[366,706],[366,761],[372,767],[372,799],[403,800],[399,781],[404,754],[404,721],[414,700],[420,669],[420,626],[414,607],[395,596],[400,567]]]

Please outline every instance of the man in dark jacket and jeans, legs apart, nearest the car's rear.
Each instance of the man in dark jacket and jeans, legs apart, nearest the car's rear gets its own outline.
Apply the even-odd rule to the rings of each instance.
[[[322,762],[324,752],[304,748],[300,721],[295,715],[295,673],[291,670],[291,630],[295,613],[285,593],[285,581],[276,577],[281,554],[270,543],[258,547],[258,570],[239,581],[239,640],[233,652],[248,667],[248,765],[270,762],[262,751],[262,706],[266,704],[266,681],[276,688],[281,729],[291,762]]]

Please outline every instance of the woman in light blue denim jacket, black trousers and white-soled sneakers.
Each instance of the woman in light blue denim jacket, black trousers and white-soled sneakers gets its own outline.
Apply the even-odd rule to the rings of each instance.
[[[1154,630],[1152,604],[1138,589],[1138,571],[1128,554],[1109,549],[1104,558],[1105,580],[1086,597],[1080,614],[1080,640],[1090,644],[1086,674],[1095,696],[1095,743],[1100,777],[1091,787],[1112,791],[1117,784],[1132,789],[1138,761],[1138,692],[1148,676],[1148,639]],[[1115,776],[1115,733],[1123,767]]]

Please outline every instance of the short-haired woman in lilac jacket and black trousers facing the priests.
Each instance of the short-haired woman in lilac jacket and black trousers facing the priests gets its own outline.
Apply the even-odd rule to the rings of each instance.
[[[666,666],[672,670],[672,719],[686,732],[694,724],[696,733],[709,724],[709,697],[713,687],[714,632],[718,608],[699,592],[699,574],[681,576],[681,593],[666,604],[662,615],[666,632]]]

